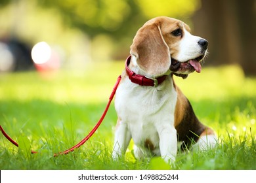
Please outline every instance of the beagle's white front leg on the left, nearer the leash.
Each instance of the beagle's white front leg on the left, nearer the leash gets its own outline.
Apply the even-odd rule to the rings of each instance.
[[[130,141],[131,133],[127,127],[127,124],[123,123],[121,120],[118,120],[112,157],[114,159],[117,159],[119,156],[125,154],[125,151],[127,150]]]

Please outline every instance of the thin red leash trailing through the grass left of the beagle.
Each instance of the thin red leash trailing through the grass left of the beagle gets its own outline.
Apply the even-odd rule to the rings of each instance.
[[[98,129],[98,127],[100,126],[100,124],[102,123],[102,121],[104,120],[105,116],[106,116],[106,113],[108,112],[108,108],[110,107],[110,103],[112,102],[112,99],[114,98],[114,95],[116,94],[116,90],[117,90],[117,87],[119,85],[119,82],[121,80],[121,76],[119,76],[117,78],[117,81],[116,81],[116,84],[113,88],[113,91],[108,99],[108,104],[106,105],[106,108],[100,118],[100,120],[98,120],[98,123],[95,125],[95,127],[92,129],[92,131],[89,133],[89,135],[87,135],[81,142],[79,142],[78,144],[76,144],[75,146],[73,146],[72,148],[69,148],[68,150],[65,150],[64,152],[58,152],[58,153],[55,153],[53,156],[59,156],[59,155],[63,155],[63,154],[68,154],[72,151],[74,151],[75,148],[79,148],[81,145],[83,145],[86,141],[88,141],[90,139],[90,137],[95,133],[95,131]],[[5,133],[5,131],[3,130],[3,127],[1,127],[0,125],[0,131],[3,133],[3,135],[10,141],[12,142],[12,144],[14,144],[15,146],[18,147],[18,143],[15,142],[14,140],[12,140],[11,137],[9,137],[9,135],[7,135],[7,133]],[[35,154],[37,153],[36,151],[31,151],[32,154]]]

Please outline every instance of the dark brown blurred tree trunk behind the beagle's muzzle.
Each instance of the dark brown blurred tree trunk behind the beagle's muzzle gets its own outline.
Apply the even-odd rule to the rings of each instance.
[[[255,0],[208,0],[194,14],[194,32],[209,41],[206,64],[240,64],[256,75]]]

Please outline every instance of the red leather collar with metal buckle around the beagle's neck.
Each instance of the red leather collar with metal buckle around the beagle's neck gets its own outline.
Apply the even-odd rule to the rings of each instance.
[[[131,56],[129,56],[126,59],[125,70],[126,70],[127,75],[129,76],[129,79],[131,80],[131,82],[133,82],[135,84],[139,84],[140,86],[154,86],[154,87],[157,87],[158,85],[160,85],[165,80],[166,75],[160,76],[158,78],[148,78],[146,76],[135,74],[128,67],[128,65],[130,64],[130,61],[131,61]]]

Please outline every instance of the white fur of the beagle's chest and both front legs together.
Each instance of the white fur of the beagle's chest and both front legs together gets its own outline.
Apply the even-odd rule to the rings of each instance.
[[[132,83],[128,77],[123,78],[116,92],[115,107],[120,123],[116,129],[113,157],[121,156],[133,138],[138,148],[144,148],[145,141],[150,141],[154,154],[166,162],[175,161],[176,102],[177,92],[171,76],[167,76],[165,82],[157,88],[142,87]],[[135,156],[142,158],[142,154],[139,149],[135,149]]]

